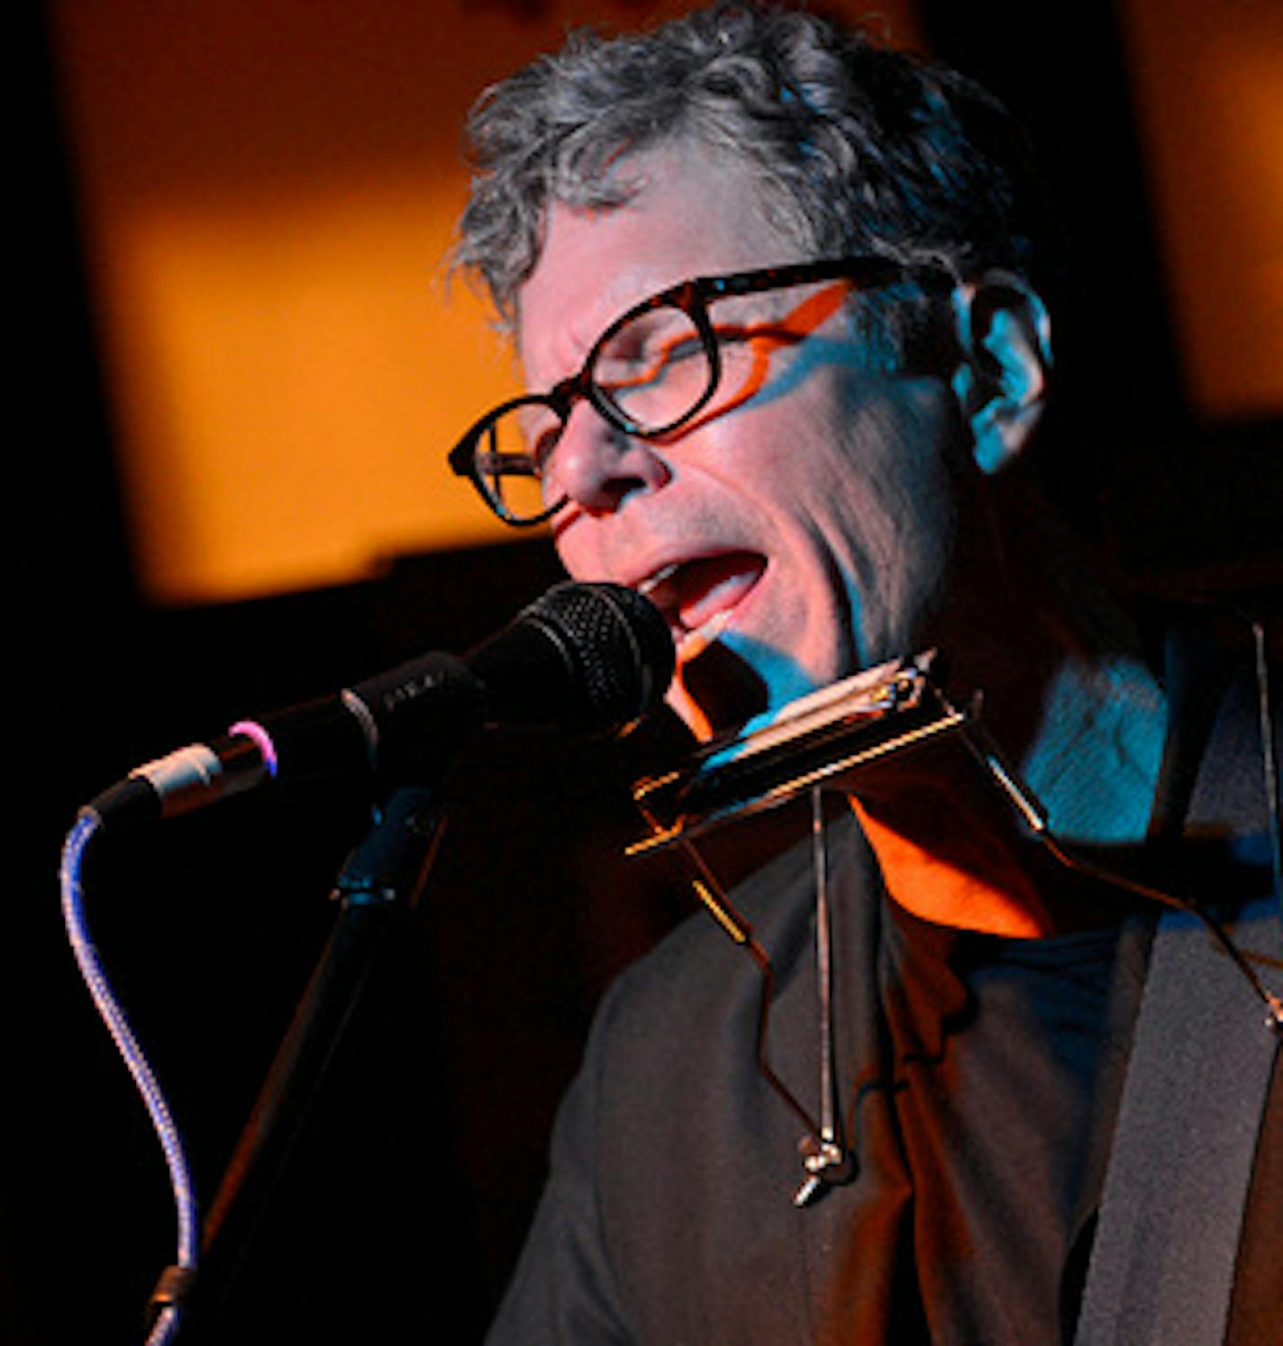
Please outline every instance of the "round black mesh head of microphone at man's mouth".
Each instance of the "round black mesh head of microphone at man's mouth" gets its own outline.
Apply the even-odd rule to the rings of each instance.
[[[676,662],[673,638],[641,594],[622,584],[557,584],[522,618],[543,626],[575,669],[563,728],[618,732],[664,700]]]

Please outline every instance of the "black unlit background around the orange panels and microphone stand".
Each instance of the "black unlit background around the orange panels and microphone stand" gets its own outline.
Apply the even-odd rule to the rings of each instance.
[[[559,573],[544,544],[518,542],[407,556],[377,580],[279,599],[183,611],[140,600],[44,35],[38,8],[19,12],[30,180],[11,254],[19,864],[3,965],[0,1338],[124,1342],[140,1339],[174,1256],[172,1213],[141,1105],[62,935],[58,851],[77,805],[241,713],[424,649],[466,649]],[[1280,427],[1212,425],[1189,408],[1112,9],[1027,7],[1026,27],[1014,13],[924,5],[933,48],[1022,113],[1068,221],[1078,281],[1062,331],[1093,433],[1060,479],[1127,583],[1268,602]],[[1109,320],[1120,306],[1135,324]],[[427,896],[339,1047],[218,1339],[479,1337],[592,1004],[688,910],[662,865],[617,859],[633,829],[619,782],[674,742],[666,725],[619,750],[494,739],[458,762]],[[92,856],[93,929],[206,1199],[330,930],[328,888],[359,830],[349,805],[267,794]]]

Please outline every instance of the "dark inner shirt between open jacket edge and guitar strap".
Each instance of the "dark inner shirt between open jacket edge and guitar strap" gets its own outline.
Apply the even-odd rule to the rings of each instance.
[[[1119,927],[1007,940],[889,907],[835,1318],[856,1341],[1069,1339],[1144,941],[1120,979]]]

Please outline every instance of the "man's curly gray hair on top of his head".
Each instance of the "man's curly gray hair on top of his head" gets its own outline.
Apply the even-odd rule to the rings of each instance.
[[[512,326],[552,202],[611,207],[629,153],[693,137],[761,187],[809,256],[874,252],[957,279],[1031,279],[1041,186],[1006,110],[964,77],[800,9],[715,4],[652,32],[572,34],[478,100],[455,265]],[[763,264],[779,258],[763,258]]]

